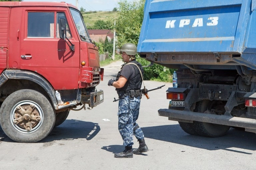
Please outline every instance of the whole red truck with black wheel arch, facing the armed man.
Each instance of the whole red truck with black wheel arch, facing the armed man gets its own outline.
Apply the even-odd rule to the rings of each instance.
[[[40,141],[71,109],[103,102],[98,48],[64,2],[0,2],[0,73],[0,124],[17,142]]]

